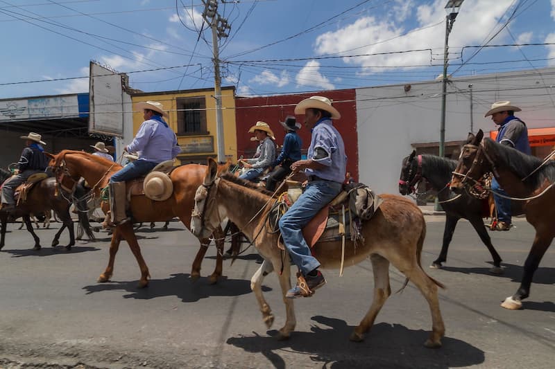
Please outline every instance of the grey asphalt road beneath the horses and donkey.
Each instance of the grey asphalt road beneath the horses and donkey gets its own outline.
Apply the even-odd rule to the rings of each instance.
[[[555,359],[555,248],[540,264],[531,297],[520,311],[499,307],[518,287],[533,239],[523,219],[492,233],[504,259],[503,276],[488,274],[490,255],[468,222],[456,229],[443,270],[427,269],[441,246],[443,217],[428,216],[422,264],[447,289],[440,304],[443,348],[424,343],[431,329],[424,298],[409,284],[393,294],[363,343],[348,340],[373,292],[369,261],[325,271],[327,285],[296,301],[297,328],[289,341],[273,338],[284,323],[277,278],[264,290],[275,323],[266,330],[250,277],[257,255],[224,264],[225,278],[209,285],[214,247],[203,278],[189,280],[196,239],[178,222],[169,231],[138,235],[151,284],[137,289],[139,269],[122,242],[111,282],[96,282],[108,262],[109,238],[51,249],[53,229],[38,231],[42,251],[10,224],[0,251],[0,368],[552,368]],[[162,224],[157,224],[162,226]],[[67,233],[61,243],[67,242]],[[396,291],[404,277],[391,269]]]

